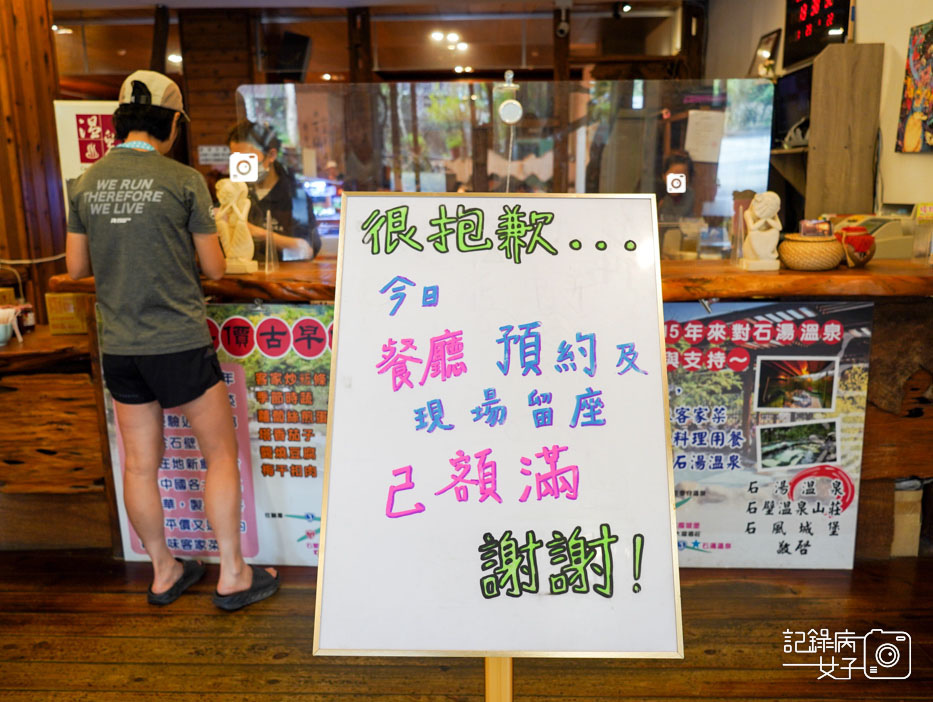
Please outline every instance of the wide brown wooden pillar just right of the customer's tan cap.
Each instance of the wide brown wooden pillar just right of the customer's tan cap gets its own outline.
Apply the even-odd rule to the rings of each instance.
[[[246,117],[238,109],[237,88],[255,82],[250,14],[246,10],[179,10],[184,60],[188,162],[202,173],[199,146],[223,146],[227,131]]]

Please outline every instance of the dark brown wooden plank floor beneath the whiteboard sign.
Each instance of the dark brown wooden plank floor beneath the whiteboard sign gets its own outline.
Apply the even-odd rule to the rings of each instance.
[[[482,659],[313,657],[313,568],[283,568],[276,597],[233,614],[211,604],[208,580],[150,607],[148,573],[102,551],[0,553],[0,699],[484,699]],[[514,699],[933,699],[933,559],[684,570],[681,585],[683,661],[516,659]],[[783,667],[818,661],[785,654],[783,632],[821,628],[906,631],[911,676],[818,680],[815,667]]]

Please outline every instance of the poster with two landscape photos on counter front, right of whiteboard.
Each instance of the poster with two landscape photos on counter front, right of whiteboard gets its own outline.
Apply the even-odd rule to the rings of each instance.
[[[872,304],[664,316],[681,566],[851,568]]]

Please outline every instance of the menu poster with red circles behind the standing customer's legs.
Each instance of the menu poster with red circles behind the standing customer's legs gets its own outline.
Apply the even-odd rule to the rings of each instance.
[[[239,448],[241,543],[250,562],[317,565],[333,306],[208,305]],[[123,447],[105,390],[123,552],[147,560],[123,506]],[[159,488],[165,536],[177,556],[215,561],[204,511],[208,476],[184,414],[164,411]]]

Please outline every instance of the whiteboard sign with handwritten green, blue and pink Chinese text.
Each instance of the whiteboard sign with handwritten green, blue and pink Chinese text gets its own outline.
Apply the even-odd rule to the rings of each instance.
[[[654,197],[341,212],[315,653],[682,657]]]

